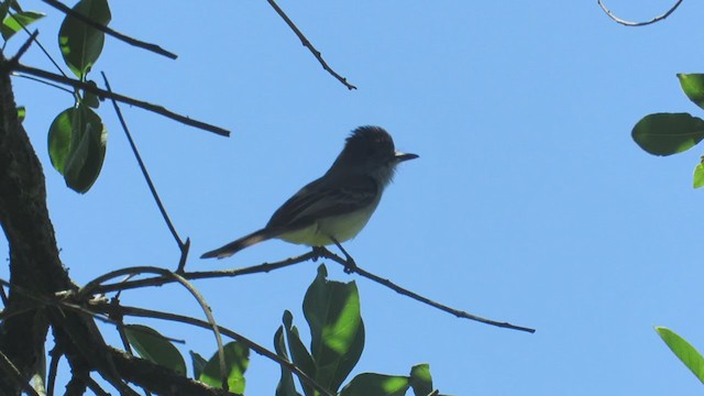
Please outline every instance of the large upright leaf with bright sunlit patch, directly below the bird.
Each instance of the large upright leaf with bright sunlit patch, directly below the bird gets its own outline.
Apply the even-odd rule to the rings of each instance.
[[[304,298],[304,315],[310,327],[315,380],[336,392],[362,355],[364,323],[354,282],[332,282],[327,275],[320,265]]]

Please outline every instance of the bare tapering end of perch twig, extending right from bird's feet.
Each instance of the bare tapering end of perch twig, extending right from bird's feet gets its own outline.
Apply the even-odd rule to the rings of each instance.
[[[448,306],[442,305],[440,302],[436,302],[436,301],[433,301],[433,300],[431,300],[431,299],[429,299],[427,297],[424,297],[424,296],[421,296],[419,294],[416,294],[416,293],[410,292],[410,290],[408,290],[406,288],[403,288],[403,287],[396,285],[395,283],[388,280],[388,279],[384,279],[384,278],[382,278],[382,277],[380,277],[377,275],[374,275],[374,274],[372,274],[370,272],[366,272],[366,271],[362,270],[358,265],[352,266],[352,265],[350,265],[350,263],[346,260],[344,260],[344,258],[338,256],[337,254],[330,252],[326,248],[317,248],[316,252],[321,257],[330,258],[330,260],[334,261],[338,264],[342,264],[344,266],[344,271],[345,272],[349,271],[351,273],[360,274],[360,275],[364,276],[365,278],[374,280],[380,285],[384,285],[384,286],[391,288],[392,290],[394,290],[394,292],[396,292],[398,294],[402,294],[404,296],[410,297],[410,298],[413,298],[413,299],[415,299],[417,301],[427,304],[427,305],[429,305],[431,307],[438,308],[438,309],[440,309],[442,311],[446,311],[448,314],[452,314],[458,318],[475,320],[475,321],[479,321],[479,322],[482,322],[482,323],[496,326],[496,327],[501,327],[501,328],[505,328],[505,329],[520,330],[520,331],[526,331],[526,332],[529,332],[529,333],[536,332],[536,330],[531,329],[531,328],[527,328],[527,327],[512,324],[512,323],[508,323],[508,322],[499,322],[499,321],[496,321],[496,320],[482,318],[482,317],[479,317],[476,315],[472,315],[472,314],[469,314],[469,312],[465,312],[465,311],[462,311],[462,310],[459,310],[459,309],[454,309],[454,308],[448,307]]]

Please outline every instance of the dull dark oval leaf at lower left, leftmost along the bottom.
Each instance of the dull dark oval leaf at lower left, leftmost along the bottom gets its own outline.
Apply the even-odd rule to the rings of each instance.
[[[164,336],[142,324],[128,324],[124,332],[140,356],[186,376],[184,358]]]

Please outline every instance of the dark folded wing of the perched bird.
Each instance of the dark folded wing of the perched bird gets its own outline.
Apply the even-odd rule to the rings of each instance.
[[[369,176],[349,176],[342,186],[317,179],[290,197],[272,216],[266,228],[307,227],[317,219],[350,213],[364,208],[377,197],[378,186]]]

